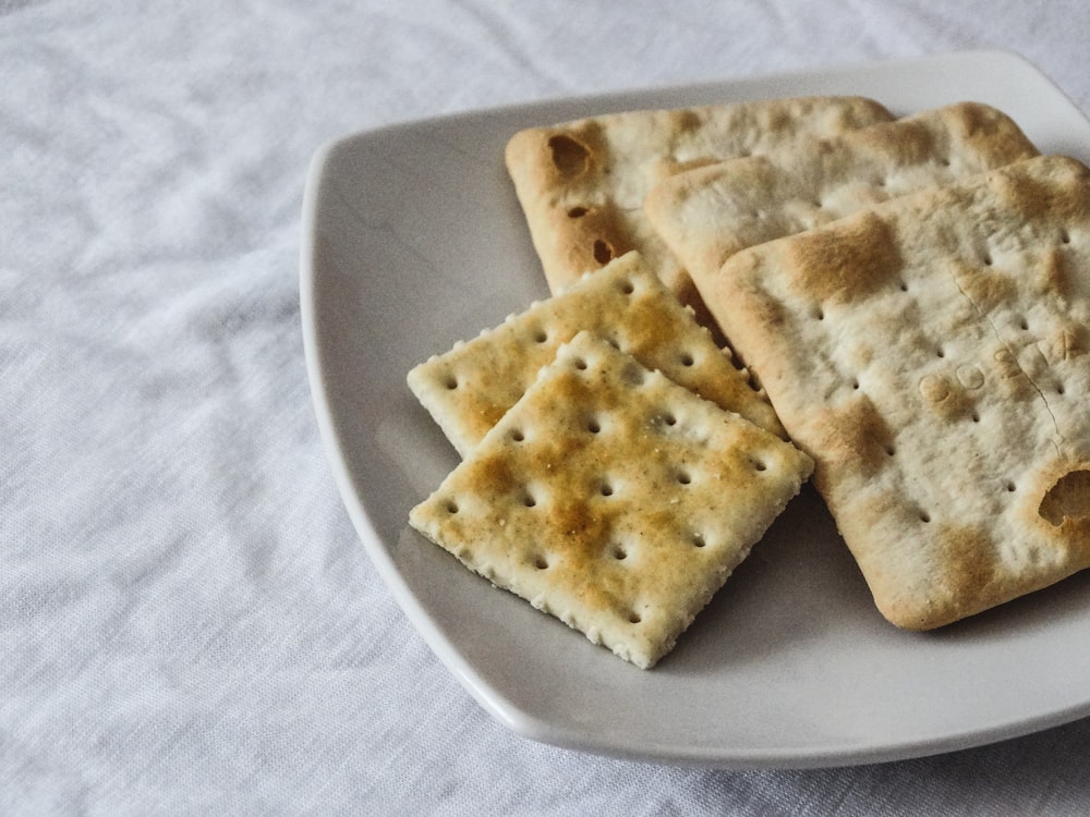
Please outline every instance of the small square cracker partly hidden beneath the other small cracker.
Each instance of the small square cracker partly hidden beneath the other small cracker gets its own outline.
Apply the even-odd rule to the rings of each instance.
[[[639,253],[413,368],[409,386],[463,456],[514,405],[561,343],[594,330],[649,368],[783,435],[764,393],[735,367]]]

